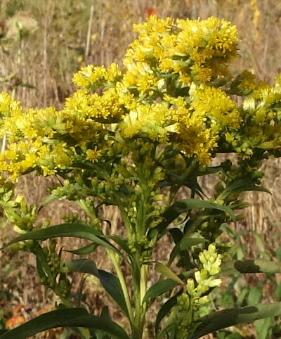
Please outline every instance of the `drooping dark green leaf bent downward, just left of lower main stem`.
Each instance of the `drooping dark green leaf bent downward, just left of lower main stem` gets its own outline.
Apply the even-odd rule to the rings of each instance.
[[[97,269],[96,264],[89,259],[70,260],[65,262],[65,266],[69,271],[92,274],[100,279],[103,288],[105,288],[110,297],[117,302],[124,314],[128,316],[124,294],[117,276],[102,269]]]

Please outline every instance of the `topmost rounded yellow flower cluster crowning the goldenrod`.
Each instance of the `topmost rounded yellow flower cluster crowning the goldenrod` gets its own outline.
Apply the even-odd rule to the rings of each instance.
[[[150,16],[147,23],[135,25],[139,33],[126,52],[124,65],[132,76],[131,86],[138,86],[141,69],[178,73],[186,84],[209,82],[218,75],[227,75],[226,64],[237,53],[237,30],[226,20],[171,20]]]

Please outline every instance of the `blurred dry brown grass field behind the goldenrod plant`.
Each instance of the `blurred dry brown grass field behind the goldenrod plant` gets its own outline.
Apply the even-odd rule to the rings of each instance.
[[[225,18],[237,25],[240,37],[239,58],[231,66],[234,73],[248,69],[257,79],[272,84],[275,75],[281,72],[280,0],[1,0],[0,91],[13,94],[27,108],[50,105],[62,108],[65,98],[74,91],[73,73],[89,63],[121,65],[124,52],[136,37],[133,23],[141,23],[151,14],[160,18],[204,19],[211,15]],[[263,183],[272,195],[249,193],[245,199],[251,207],[246,210],[244,221],[226,229],[235,244],[234,259],[280,260],[280,168],[278,159],[267,162]],[[30,203],[39,203],[50,184],[52,179],[42,181],[28,175],[19,182],[18,191]],[[212,182],[204,182],[204,188],[211,193]],[[74,211],[72,204],[55,205],[42,217],[50,217],[56,223],[61,221],[61,215]],[[117,211],[110,209],[105,214],[113,218],[118,228]],[[13,236],[2,220],[0,241]],[[169,249],[169,241],[166,238],[165,248]],[[164,260],[169,250],[161,251],[155,255]],[[25,267],[21,267],[22,260]],[[55,298],[39,286],[34,258],[8,250],[0,253],[0,262],[0,331],[53,309]],[[96,262],[99,267],[108,265],[98,255]],[[84,286],[85,302],[91,312],[98,314],[110,301],[100,293],[96,281],[88,280]],[[278,274],[226,281],[223,287],[226,297],[215,296],[216,305],[231,307],[281,300],[280,281]],[[75,283],[78,291],[82,282],[78,279]],[[123,321],[118,309],[113,316]],[[281,338],[281,334],[276,336],[278,326],[279,319],[267,319],[209,338]],[[71,333],[62,337],[61,333],[48,331],[37,338],[75,338]],[[149,333],[150,328],[147,338],[152,338]]]

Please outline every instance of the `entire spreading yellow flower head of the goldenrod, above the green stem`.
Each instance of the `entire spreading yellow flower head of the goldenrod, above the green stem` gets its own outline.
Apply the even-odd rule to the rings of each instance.
[[[8,137],[2,172],[13,180],[32,170],[52,175],[117,153],[130,162],[127,141],[138,139],[171,144],[202,165],[218,151],[244,158],[280,152],[280,77],[269,87],[250,72],[230,74],[228,63],[237,56],[235,26],[214,17],[152,15],[134,29],[138,38],[124,68],[112,63],[79,70],[73,77],[79,89],[63,110],[23,111],[0,94],[0,136]],[[244,97],[241,107],[235,96]]]

